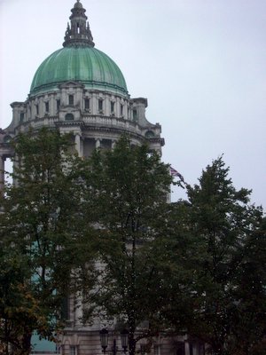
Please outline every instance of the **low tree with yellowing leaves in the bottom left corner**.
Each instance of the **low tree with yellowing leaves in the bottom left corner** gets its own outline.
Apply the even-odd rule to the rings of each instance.
[[[1,353],[9,354],[9,345],[16,349],[15,353],[25,353],[29,346],[26,329],[33,323],[46,328],[39,302],[30,292],[27,257],[7,249],[2,243],[0,270]]]

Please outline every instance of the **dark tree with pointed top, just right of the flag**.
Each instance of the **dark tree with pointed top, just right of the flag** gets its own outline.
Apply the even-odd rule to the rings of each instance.
[[[258,260],[254,253],[262,209],[248,204],[250,191],[236,190],[228,173],[220,157],[202,172],[200,185],[187,186],[187,224],[197,239],[192,280],[196,302],[187,329],[208,343],[215,355],[235,353],[236,341],[246,334],[250,340],[265,335],[265,279],[254,287],[264,267],[263,252]],[[265,233],[259,240],[265,248]],[[262,329],[257,331],[250,326],[259,319]]]

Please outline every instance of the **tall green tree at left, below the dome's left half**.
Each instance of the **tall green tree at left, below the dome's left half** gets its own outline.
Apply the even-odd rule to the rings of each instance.
[[[20,134],[14,152],[15,185],[1,197],[0,319],[10,327],[1,336],[27,354],[33,331],[54,338],[71,273],[82,265],[81,186],[71,138],[58,130]]]

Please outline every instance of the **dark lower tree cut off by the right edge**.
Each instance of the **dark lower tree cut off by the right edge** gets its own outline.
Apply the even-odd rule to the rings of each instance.
[[[246,239],[245,256],[234,291],[237,307],[231,338],[239,355],[266,351],[266,220]]]

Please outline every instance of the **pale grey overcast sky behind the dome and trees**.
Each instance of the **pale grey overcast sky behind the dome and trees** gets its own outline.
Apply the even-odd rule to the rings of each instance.
[[[163,161],[195,184],[223,155],[266,206],[266,0],[83,0],[96,47],[160,122]],[[0,0],[0,127],[62,46],[74,0]],[[175,187],[173,201],[184,192]]]

